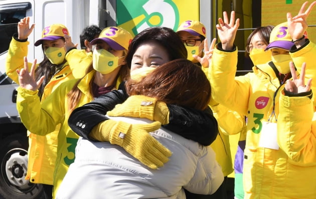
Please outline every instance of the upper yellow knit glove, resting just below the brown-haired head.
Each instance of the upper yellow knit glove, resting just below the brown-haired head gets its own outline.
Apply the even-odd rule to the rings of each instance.
[[[144,95],[132,95],[122,104],[108,111],[109,116],[131,116],[169,123],[169,109],[165,102],[157,101],[154,97]]]

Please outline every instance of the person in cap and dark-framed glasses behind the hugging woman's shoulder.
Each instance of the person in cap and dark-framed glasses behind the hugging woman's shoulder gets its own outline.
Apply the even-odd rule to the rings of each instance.
[[[204,24],[197,20],[186,20],[179,25],[177,34],[187,48],[188,59],[202,66],[202,70],[209,78],[212,66],[209,66],[209,58],[211,57],[208,57],[208,54],[204,54],[203,52],[204,48],[208,48],[207,40],[205,40],[206,28]],[[193,194],[186,190],[187,198],[227,198],[227,176],[234,170],[228,135],[239,133],[245,125],[244,117],[237,112],[229,110],[214,100],[210,101],[209,106],[219,124],[219,133],[215,141],[211,144],[211,147],[216,153],[216,160],[221,165],[225,178],[222,185],[214,194],[206,196]]]

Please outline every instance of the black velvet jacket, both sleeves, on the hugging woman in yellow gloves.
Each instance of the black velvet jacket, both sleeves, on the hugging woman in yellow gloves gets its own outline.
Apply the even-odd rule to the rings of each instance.
[[[123,103],[128,95],[124,83],[118,90],[112,90],[95,100],[77,107],[70,114],[68,125],[79,136],[89,139],[88,134],[94,126],[108,119],[106,112],[116,104]],[[167,104],[170,110],[169,124],[165,128],[202,145],[210,145],[218,134],[217,121],[208,107],[201,111],[194,108]]]

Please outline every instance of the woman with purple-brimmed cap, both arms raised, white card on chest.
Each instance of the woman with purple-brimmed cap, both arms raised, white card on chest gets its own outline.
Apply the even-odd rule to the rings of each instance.
[[[248,117],[243,169],[245,198],[314,198],[316,194],[316,177],[311,174],[316,165],[311,159],[302,161],[310,158],[309,151],[301,150],[301,146],[288,147],[295,144],[288,138],[295,137],[284,138],[288,132],[279,120],[280,94],[290,76],[291,58],[297,72],[301,71],[298,59],[303,59],[311,68],[306,70],[306,77],[316,74],[312,62],[316,47],[303,36],[306,17],[316,1],[304,11],[306,4],[297,16],[292,18],[288,13],[287,23],[273,28],[266,48],[272,50],[272,61],[254,66],[253,72],[243,76],[235,77],[237,49],[233,42],[239,19],[234,21],[233,11],[229,21],[224,12],[224,18],[219,18],[216,25],[222,43],[216,45],[212,59],[214,97]],[[293,158],[290,153],[300,155]]]

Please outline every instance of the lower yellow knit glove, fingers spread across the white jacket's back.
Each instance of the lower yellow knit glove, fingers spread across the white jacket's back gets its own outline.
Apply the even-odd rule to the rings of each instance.
[[[126,152],[149,168],[156,169],[166,163],[171,151],[148,132],[161,127],[159,121],[146,124],[131,124],[107,119],[90,132],[89,136],[99,141],[109,141],[122,146]]]

